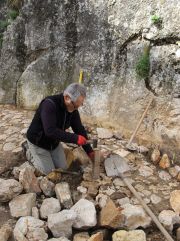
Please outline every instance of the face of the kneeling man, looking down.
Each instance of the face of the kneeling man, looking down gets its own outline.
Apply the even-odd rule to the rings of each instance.
[[[76,101],[72,101],[68,95],[64,96],[64,102],[68,112],[73,112],[74,110],[77,110],[79,107],[83,106],[84,100],[84,96],[79,96]]]

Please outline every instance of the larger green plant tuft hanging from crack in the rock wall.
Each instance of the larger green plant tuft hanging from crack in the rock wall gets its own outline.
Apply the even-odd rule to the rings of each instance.
[[[136,74],[140,79],[148,78],[150,71],[150,60],[149,60],[150,47],[145,46],[143,54],[139,58],[136,64]]]

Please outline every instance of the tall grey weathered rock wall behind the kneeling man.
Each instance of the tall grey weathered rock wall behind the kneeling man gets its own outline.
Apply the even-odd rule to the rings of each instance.
[[[157,105],[141,128],[148,129],[144,138],[179,145],[180,100],[170,97],[180,94],[179,0],[23,2],[3,34],[1,103],[34,108],[82,69],[89,86],[85,114],[132,131],[150,91]],[[137,63],[149,45],[149,72],[139,79]]]

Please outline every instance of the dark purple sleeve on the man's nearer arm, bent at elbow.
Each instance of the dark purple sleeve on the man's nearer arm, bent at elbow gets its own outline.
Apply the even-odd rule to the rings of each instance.
[[[56,106],[48,99],[44,100],[41,105],[41,120],[45,135],[49,138],[66,143],[77,143],[76,134],[57,128]]]

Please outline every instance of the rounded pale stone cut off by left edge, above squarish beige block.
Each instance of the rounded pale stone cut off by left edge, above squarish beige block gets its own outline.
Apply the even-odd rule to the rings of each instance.
[[[19,195],[23,187],[14,179],[0,179],[0,202],[8,202]]]

